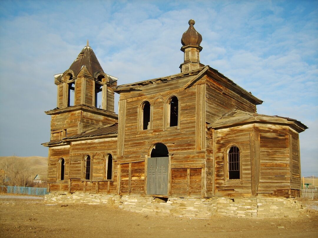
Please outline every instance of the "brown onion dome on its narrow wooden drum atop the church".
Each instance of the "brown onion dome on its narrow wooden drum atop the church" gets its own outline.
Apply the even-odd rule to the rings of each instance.
[[[202,47],[202,36],[199,32],[194,29],[195,21],[189,20],[189,28],[185,31],[181,38],[181,51],[184,52],[184,62],[180,65],[181,73],[199,69],[204,65],[200,63],[200,51]]]

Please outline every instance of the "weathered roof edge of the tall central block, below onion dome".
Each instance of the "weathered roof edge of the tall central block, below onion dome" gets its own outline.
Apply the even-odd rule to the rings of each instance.
[[[186,72],[171,75],[171,76],[149,79],[149,80],[140,81],[140,82],[136,82],[136,83],[128,83],[128,84],[119,85],[116,87],[116,89],[114,89],[114,91],[117,93],[136,91],[136,90],[141,90],[141,87],[146,86],[146,85],[152,85],[152,84],[156,84],[156,83],[166,83],[169,81],[177,80],[180,78],[185,78],[188,76],[197,76],[185,85],[185,87],[187,88],[187,87],[191,87],[197,80],[202,78],[204,75],[210,76],[211,78],[213,78],[213,80],[224,85],[226,88],[234,91],[235,93],[239,94],[240,96],[242,96],[246,100],[254,103],[255,105],[262,104],[262,102],[263,102],[259,98],[252,95],[251,92],[247,92],[245,89],[241,88],[239,85],[234,83],[231,79],[229,79],[228,77],[221,74],[217,69],[213,69],[209,65],[205,65],[204,67],[201,67],[199,69],[195,69],[192,71],[186,71]]]

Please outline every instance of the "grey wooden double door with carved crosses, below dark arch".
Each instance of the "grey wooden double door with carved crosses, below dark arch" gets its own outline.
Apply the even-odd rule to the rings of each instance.
[[[168,195],[169,157],[148,158],[147,194]]]

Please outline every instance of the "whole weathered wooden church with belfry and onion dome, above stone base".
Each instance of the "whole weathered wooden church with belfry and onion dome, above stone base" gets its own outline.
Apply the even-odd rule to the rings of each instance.
[[[200,63],[189,21],[181,73],[117,86],[88,45],[55,75],[50,192],[153,197],[299,197],[298,134],[307,127],[256,113],[262,103]],[[120,94],[119,113],[114,93]]]

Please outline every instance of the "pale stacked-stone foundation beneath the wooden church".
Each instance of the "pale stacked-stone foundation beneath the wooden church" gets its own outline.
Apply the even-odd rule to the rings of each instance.
[[[256,218],[296,217],[303,210],[301,203],[293,198],[168,198],[165,202],[148,196],[50,193],[45,195],[45,201],[105,204],[150,215],[200,219],[209,219],[216,214]]]

